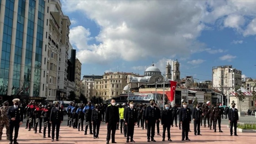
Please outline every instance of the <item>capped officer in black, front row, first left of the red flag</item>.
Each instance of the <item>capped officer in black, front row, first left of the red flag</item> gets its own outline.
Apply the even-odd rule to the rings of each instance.
[[[150,142],[149,140],[150,138],[151,138],[151,141],[156,142],[154,139],[154,136],[155,136],[155,123],[158,121],[158,115],[156,113],[157,111],[156,111],[156,107],[154,107],[154,103],[155,103],[155,100],[151,100],[150,106],[148,106],[145,111],[148,142]],[[151,136],[150,136],[150,132],[151,132]]]

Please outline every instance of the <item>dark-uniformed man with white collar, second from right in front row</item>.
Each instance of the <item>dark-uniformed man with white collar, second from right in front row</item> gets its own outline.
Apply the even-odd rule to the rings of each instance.
[[[192,111],[195,135],[202,135],[202,134],[200,134],[200,120],[202,117],[202,113],[203,113],[202,109],[200,108],[199,103],[197,103],[197,107],[193,108],[193,111]]]

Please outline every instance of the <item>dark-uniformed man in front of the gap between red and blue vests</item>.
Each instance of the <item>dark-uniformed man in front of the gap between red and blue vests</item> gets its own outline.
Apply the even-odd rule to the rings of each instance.
[[[55,102],[55,107],[52,108],[50,114],[50,123],[52,123],[52,142],[54,139],[54,131],[56,127],[56,141],[59,141],[59,127],[63,122],[63,110],[59,107],[59,101]]]

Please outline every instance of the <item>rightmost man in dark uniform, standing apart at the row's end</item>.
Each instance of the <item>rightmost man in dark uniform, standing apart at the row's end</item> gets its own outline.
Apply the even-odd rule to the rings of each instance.
[[[236,134],[237,122],[239,120],[238,110],[235,108],[235,103],[231,103],[231,105],[232,105],[232,108],[229,109],[230,136],[232,136],[233,134],[233,125],[234,125],[235,136],[238,136]]]

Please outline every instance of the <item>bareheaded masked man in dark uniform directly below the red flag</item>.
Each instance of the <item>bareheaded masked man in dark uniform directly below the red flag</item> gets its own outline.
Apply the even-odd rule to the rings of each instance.
[[[161,124],[163,125],[163,140],[165,141],[165,131],[167,129],[167,137],[168,141],[171,140],[171,133],[170,133],[170,128],[171,128],[171,120],[172,120],[172,111],[170,110],[170,106],[168,104],[165,105],[165,109],[162,111],[162,119],[161,119]]]

